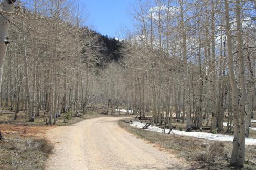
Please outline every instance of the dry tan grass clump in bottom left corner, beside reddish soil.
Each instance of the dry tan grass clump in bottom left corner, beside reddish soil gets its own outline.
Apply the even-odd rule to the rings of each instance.
[[[0,141],[0,169],[45,169],[52,149],[46,139],[5,136]]]

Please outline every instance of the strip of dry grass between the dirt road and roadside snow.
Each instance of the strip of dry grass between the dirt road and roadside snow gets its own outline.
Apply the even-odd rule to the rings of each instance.
[[[120,121],[119,125],[140,138],[170,149],[178,156],[198,161],[204,169],[236,169],[228,165],[228,157],[232,149],[231,142],[212,142],[206,139],[145,131],[131,127],[123,121]],[[206,148],[202,147],[203,143],[207,143]],[[246,146],[246,159],[256,162],[255,153],[256,147]],[[247,163],[243,169],[256,169],[256,166]]]

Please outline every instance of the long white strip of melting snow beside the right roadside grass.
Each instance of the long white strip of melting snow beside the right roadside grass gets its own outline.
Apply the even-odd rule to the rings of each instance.
[[[130,126],[136,127],[136,128],[143,128],[146,124],[140,123],[140,122],[133,122],[130,124]],[[163,129],[156,127],[156,126],[150,126],[148,127],[149,131],[153,132],[159,132],[163,133]],[[165,132],[169,132],[169,129],[165,129]],[[202,138],[202,139],[208,139],[208,140],[217,140],[217,141],[233,141],[233,136],[230,135],[223,135],[223,134],[212,134],[212,133],[205,133],[205,132],[185,132],[185,131],[179,131],[179,130],[172,130],[172,132],[176,135],[181,136],[191,136],[196,138]],[[245,139],[246,145],[256,145],[256,139],[253,138],[246,138]]]

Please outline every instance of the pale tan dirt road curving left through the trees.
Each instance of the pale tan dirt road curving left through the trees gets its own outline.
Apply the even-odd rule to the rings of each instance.
[[[54,144],[46,169],[194,169],[118,126],[122,117],[100,117],[46,133]]]

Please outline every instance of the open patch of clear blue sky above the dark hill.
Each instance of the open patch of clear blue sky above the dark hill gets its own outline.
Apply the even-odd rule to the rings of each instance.
[[[129,8],[136,0],[80,0],[89,11],[87,23],[103,35],[119,38],[124,28],[132,27]]]

